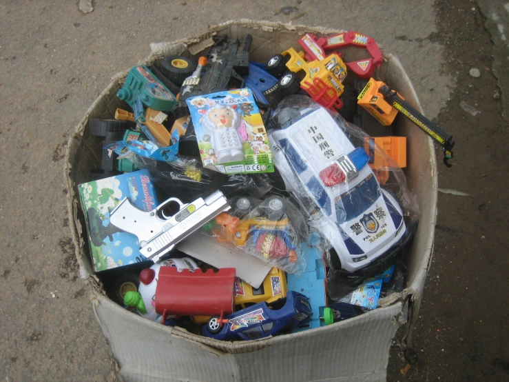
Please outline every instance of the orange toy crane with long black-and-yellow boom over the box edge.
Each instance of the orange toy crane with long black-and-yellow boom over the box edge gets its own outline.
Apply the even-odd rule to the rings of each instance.
[[[421,130],[426,132],[431,138],[435,139],[444,151],[444,164],[450,167],[449,159],[453,158],[453,147],[455,141],[453,136],[442,131],[437,125],[424,117],[415,108],[413,108],[404,98],[395,90],[386,86],[382,81],[370,79],[366,87],[357,97],[357,103],[365,108],[382,125],[391,125],[397,112],[401,112],[406,118],[410,119]]]

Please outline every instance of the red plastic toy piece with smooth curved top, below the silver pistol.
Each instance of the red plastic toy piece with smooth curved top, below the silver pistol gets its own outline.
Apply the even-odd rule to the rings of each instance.
[[[235,268],[218,272],[161,267],[156,288],[156,312],[166,316],[229,314],[233,312]]]

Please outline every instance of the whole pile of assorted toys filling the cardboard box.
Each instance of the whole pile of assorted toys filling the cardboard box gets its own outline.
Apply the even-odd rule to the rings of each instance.
[[[406,137],[376,131],[401,114],[446,164],[454,141],[375,80],[371,37],[298,43],[258,63],[249,34],[214,36],[132,68],[125,107],[89,121],[102,161],[79,194],[113,301],[236,341],[349,319],[404,289],[419,208]],[[344,62],[346,47],[368,57]]]

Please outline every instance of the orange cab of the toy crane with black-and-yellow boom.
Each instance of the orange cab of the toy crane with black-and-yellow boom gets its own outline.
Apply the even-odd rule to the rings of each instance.
[[[378,90],[384,86],[382,81],[375,81],[369,79],[366,87],[362,90],[357,97],[357,104],[366,109],[369,114],[373,115],[377,121],[384,126],[391,125],[396,118],[397,110],[393,105],[385,101],[384,96]],[[397,94],[401,97],[401,94]],[[403,97],[401,97],[403,99]]]

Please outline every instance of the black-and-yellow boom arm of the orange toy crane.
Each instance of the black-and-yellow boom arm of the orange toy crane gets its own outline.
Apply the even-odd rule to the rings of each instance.
[[[453,136],[444,132],[444,130],[435,125],[435,123],[431,122],[429,119],[424,117],[424,115],[415,110],[415,108],[413,108],[408,102],[399,97],[395,90],[384,85],[380,87],[379,91],[383,94],[386,101],[392,103],[393,108],[404,114],[406,118],[410,119],[413,123],[415,123],[415,125],[426,132],[426,134],[442,145],[442,150],[444,151],[444,164],[450,167],[448,160],[452,159],[454,156],[453,147],[455,141],[453,141]]]

